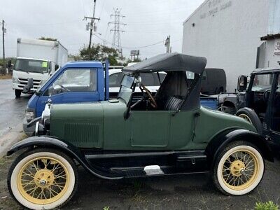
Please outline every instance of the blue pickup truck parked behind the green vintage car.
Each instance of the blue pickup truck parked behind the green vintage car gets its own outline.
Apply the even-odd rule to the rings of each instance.
[[[40,119],[48,99],[51,99],[52,104],[108,100],[109,97],[117,97],[121,78],[123,78],[121,69],[109,70],[108,62],[69,62],[65,64],[61,69],[55,71],[29,99],[23,123],[25,134],[28,136],[34,134],[34,124],[36,124],[36,120]],[[141,78],[148,89],[155,94],[165,78],[165,72],[160,73],[159,76],[148,73],[141,75]],[[140,90],[135,91],[140,92]],[[215,110],[216,98],[202,95],[201,104]]]

